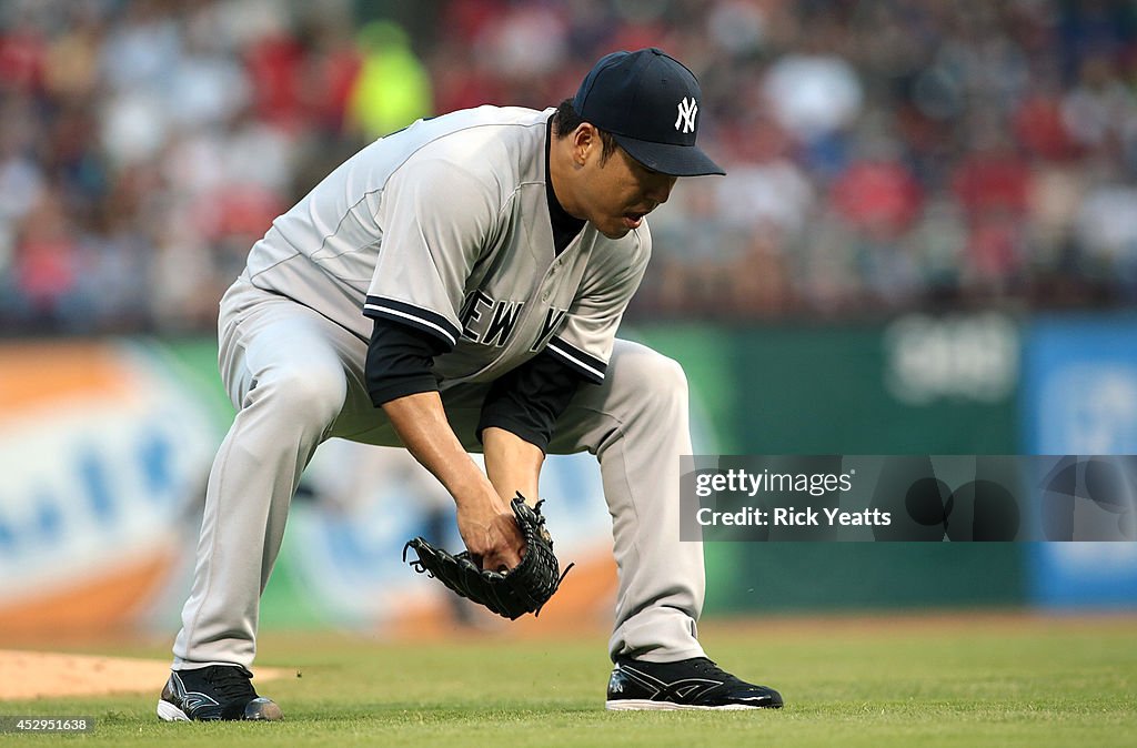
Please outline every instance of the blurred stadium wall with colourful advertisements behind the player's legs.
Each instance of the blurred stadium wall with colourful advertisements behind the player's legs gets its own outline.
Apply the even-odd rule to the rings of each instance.
[[[1132,316],[982,313],[625,334],[683,363],[700,454],[1006,455],[1137,454],[1135,332]],[[176,626],[231,417],[208,340],[0,343],[0,637]],[[333,441],[317,455],[266,626],[467,615],[399,559],[413,534],[457,542],[445,497],[424,500],[415,465],[372,451]],[[603,621],[615,572],[592,459],[551,459],[542,480],[558,550],[579,565],[566,585],[579,595],[549,615]],[[714,543],[707,613],[1132,607],[1135,548]]]

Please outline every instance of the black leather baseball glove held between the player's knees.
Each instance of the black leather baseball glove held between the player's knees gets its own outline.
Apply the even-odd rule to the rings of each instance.
[[[407,562],[420,574],[429,574],[464,598],[484,605],[500,616],[514,621],[532,613],[537,615],[557,591],[564,574],[553,555],[553,539],[545,529],[545,517],[538,501],[532,509],[524,497],[517,494],[511,507],[517,517],[517,526],[525,539],[525,554],[516,567],[507,572],[481,570],[465,550],[454,556],[442,548],[434,548],[423,538],[415,538],[402,547],[402,560],[407,560],[407,549],[414,548],[418,560]]]

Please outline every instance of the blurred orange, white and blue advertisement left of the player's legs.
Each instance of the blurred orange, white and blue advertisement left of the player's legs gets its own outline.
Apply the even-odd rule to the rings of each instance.
[[[0,346],[0,635],[115,631],[161,593],[217,443],[188,382],[143,341]]]

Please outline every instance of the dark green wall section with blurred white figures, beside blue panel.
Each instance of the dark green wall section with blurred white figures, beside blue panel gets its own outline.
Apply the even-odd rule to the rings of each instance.
[[[687,371],[692,410],[715,434],[696,440],[704,455],[1019,451],[1021,329],[1006,315],[637,332]],[[713,542],[705,554],[709,614],[1024,597],[1011,543]]]

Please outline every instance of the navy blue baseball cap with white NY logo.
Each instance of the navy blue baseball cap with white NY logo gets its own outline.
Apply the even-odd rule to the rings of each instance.
[[[695,144],[702,100],[695,74],[649,47],[603,57],[572,103],[582,119],[611,133],[650,169],[672,176],[725,174]]]

